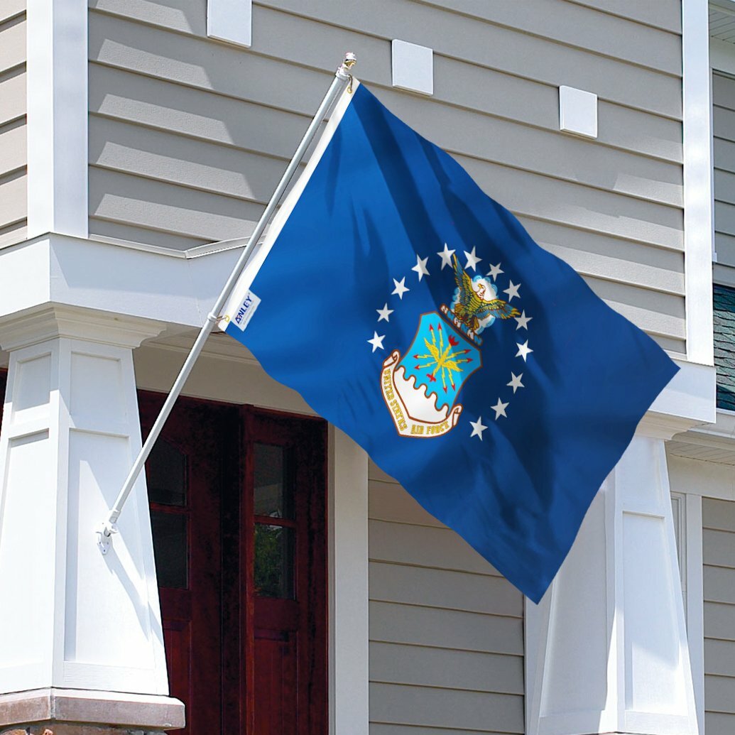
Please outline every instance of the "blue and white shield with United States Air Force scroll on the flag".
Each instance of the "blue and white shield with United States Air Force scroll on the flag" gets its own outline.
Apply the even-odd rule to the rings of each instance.
[[[383,363],[381,388],[404,437],[438,437],[456,426],[456,398],[467,378],[482,367],[480,351],[451,329],[437,312],[421,315],[413,342],[401,357]]]

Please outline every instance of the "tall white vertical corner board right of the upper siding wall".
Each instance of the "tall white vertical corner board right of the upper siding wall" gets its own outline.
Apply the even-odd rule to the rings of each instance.
[[[711,73],[705,2],[682,0],[686,356],[714,365]],[[714,406],[713,406],[714,409]]]

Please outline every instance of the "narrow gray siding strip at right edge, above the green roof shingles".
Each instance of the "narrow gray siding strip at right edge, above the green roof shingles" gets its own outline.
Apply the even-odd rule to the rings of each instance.
[[[714,248],[717,262],[735,265],[735,79],[712,74]]]

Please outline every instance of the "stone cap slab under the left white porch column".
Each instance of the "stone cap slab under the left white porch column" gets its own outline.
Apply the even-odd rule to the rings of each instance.
[[[160,695],[32,689],[0,695],[0,735],[122,735],[184,727],[184,704]]]

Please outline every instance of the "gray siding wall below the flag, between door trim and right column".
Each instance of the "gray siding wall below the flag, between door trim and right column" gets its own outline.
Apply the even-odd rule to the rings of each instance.
[[[520,592],[372,464],[369,517],[370,732],[522,733]]]

